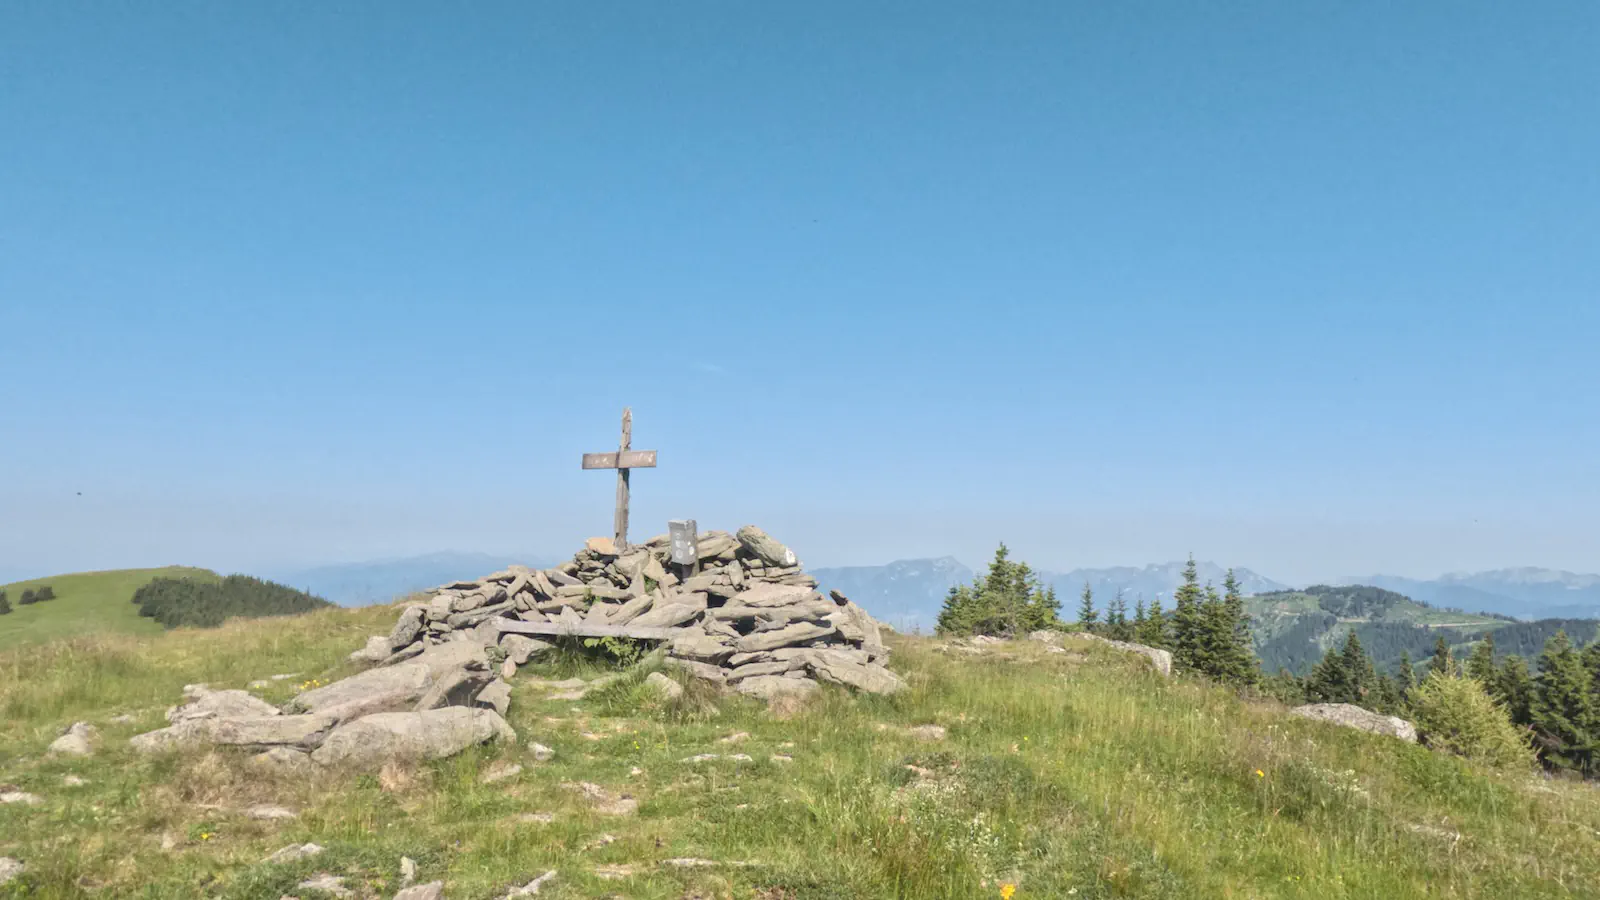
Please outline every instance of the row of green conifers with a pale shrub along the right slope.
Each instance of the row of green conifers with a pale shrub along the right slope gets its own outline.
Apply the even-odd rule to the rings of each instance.
[[[1346,593],[1333,604],[1338,609],[1325,612],[1371,612],[1394,605],[1397,597],[1363,588]],[[1104,620],[1093,589],[1085,585],[1077,620],[1069,625],[1061,618],[1054,589],[1045,588],[1026,562],[1013,560],[1005,544],[973,585],[950,588],[938,620],[938,633],[947,636],[1019,637],[1051,628],[1162,647],[1171,650],[1173,668],[1179,673],[1290,705],[1350,703],[1403,716],[1416,724],[1430,748],[1486,765],[1531,765],[1538,759],[1549,769],[1600,775],[1600,637],[1579,650],[1565,631],[1555,631],[1539,652],[1534,674],[1523,657],[1496,663],[1494,633],[1486,633],[1464,661],[1456,660],[1450,644],[1438,636],[1421,673],[1402,649],[1389,674],[1378,671],[1352,629],[1342,645],[1322,655],[1309,676],[1278,669],[1264,677],[1243,593],[1232,570],[1218,591],[1213,585],[1200,585],[1194,557],[1189,557],[1171,610],[1162,609],[1160,597],[1149,607],[1141,599],[1130,617],[1118,591]]]

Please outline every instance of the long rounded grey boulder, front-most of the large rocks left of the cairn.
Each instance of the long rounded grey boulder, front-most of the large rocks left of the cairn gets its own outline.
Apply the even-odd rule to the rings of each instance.
[[[333,730],[312,753],[318,765],[376,769],[390,759],[443,759],[517,732],[493,709],[445,706],[422,713],[379,713]]]

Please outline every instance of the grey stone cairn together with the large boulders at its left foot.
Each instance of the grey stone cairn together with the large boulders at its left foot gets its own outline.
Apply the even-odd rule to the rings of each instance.
[[[504,721],[510,681],[558,636],[656,642],[670,665],[766,700],[816,690],[819,681],[874,693],[902,687],[883,666],[877,621],[837,593],[819,594],[794,552],[760,528],[699,535],[693,567],[667,557],[666,536],[626,552],[594,538],[554,569],[445,585],[354,653],[374,668],[312,685],[282,709],[245,690],[189,685],[187,701],[166,713],[170,725],[131,743],[235,746],[264,765],[301,770],[437,759],[517,740]],[[650,684],[664,695],[680,690],[666,677]]]

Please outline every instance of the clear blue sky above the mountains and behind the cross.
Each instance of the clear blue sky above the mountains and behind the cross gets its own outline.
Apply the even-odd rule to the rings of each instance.
[[[1600,5],[6,3],[0,569],[1600,570]],[[82,492],[82,496],[78,495]]]

